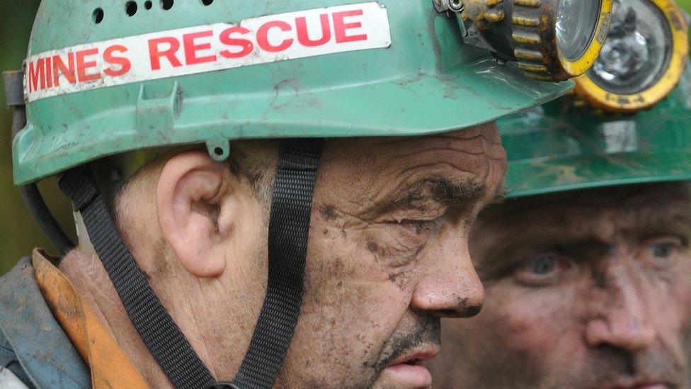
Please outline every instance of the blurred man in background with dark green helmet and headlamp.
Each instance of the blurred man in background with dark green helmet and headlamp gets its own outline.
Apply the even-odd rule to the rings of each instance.
[[[676,14],[646,3],[615,4],[612,31],[658,10]],[[610,35],[577,81],[600,108],[655,103],[650,90],[629,95],[645,100],[624,93],[625,81],[653,75],[656,64],[656,43],[646,39],[661,35],[641,20],[644,40]],[[671,70],[661,69],[676,75],[650,89],[680,76],[687,39],[673,31]],[[636,66],[641,48],[646,67]],[[602,91],[612,99],[598,101]],[[481,215],[471,234],[486,304],[473,320],[444,323],[442,359],[433,362],[439,387],[691,387],[690,97],[687,69],[651,111],[588,113],[569,99],[500,122],[510,200]]]

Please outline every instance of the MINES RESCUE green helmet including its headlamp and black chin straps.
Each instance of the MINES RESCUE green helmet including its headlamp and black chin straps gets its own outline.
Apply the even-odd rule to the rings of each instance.
[[[523,72],[585,72],[610,9],[611,0],[44,0],[24,65],[14,179],[26,191],[62,174],[144,344],[173,385],[203,387],[214,378],[121,241],[98,167],[83,166],[124,160],[122,181],[150,157],[137,150],[206,145],[224,160],[233,140],[280,138],[265,303],[234,383],[212,386],[270,388],[302,303],[319,138],[443,133],[546,103],[573,84]],[[35,192],[28,203],[40,205]],[[55,227],[43,216],[45,230]]]

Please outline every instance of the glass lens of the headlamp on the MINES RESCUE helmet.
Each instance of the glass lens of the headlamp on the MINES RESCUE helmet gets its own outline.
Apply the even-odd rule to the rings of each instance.
[[[586,54],[598,30],[602,0],[561,0],[556,13],[556,45],[569,61]]]

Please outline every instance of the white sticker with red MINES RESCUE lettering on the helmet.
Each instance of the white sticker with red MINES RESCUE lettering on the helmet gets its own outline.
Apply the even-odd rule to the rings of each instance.
[[[387,9],[350,4],[42,52],[25,62],[27,101],[140,81],[391,45]]]

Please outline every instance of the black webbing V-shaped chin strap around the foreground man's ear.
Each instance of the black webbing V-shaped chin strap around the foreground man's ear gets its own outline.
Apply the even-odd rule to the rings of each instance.
[[[60,179],[59,186],[81,213],[127,315],[176,388],[271,388],[275,383],[302,306],[312,196],[323,147],[323,140],[281,143],[269,221],[267,292],[233,383],[214,383],[122,242],[86,169],[72,169]]]

